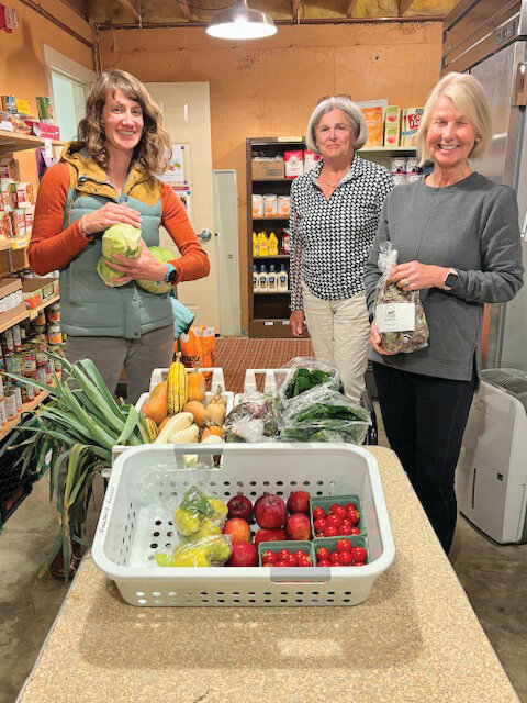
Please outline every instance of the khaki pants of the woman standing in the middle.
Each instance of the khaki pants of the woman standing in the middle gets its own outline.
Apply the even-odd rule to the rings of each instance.
[[[334,364],[340,371],[345,395],[360,402],[370,338],[365,293],[345,300],[321,300],[302,283],[302,295],[316,358]]]

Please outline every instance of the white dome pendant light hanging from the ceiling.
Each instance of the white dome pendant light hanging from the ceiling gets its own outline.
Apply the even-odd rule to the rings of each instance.
[[[259,40],[277,32],[272,18],[247,5],[247,0],[221,10],[206,33],[221,40]]]

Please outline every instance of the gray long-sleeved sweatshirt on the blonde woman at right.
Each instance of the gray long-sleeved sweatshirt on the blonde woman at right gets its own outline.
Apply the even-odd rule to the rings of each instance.
[[[446,188],[430,188],[424,179],[394,188],[366,264],[370,315],[381,277],[379,247],[386,239],[399,250],[399,264],[455,268],[459,278],[451,291],[421,291],[430,331],[426,348],[394,356],[370,349],[370,359],[414,373],[470,380],[474,356],[479,368],[483,303],[506,302],[523,284],[514,190],[476,172]]]

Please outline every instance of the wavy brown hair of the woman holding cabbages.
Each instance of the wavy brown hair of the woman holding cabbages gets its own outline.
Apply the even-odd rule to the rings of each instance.
[[[108,94],[115,96],[116,90],[138,102],[143,110],[143,133],[134,148],[134,165],[142,171],[161,174],[170,153],[170,137],[162,124],[161,111],[143,83],[124,70],[108,70],[97,79],[86,101],[86,116],[79,122],[79,143],[88,148],[99,166],[108,169],[102,109]]]

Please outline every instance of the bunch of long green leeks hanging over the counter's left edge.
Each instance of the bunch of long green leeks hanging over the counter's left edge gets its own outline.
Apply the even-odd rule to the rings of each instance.
[[[19,458],[21,476],[31,469],[44,473],[51,464],[49,500],[55,495],[60,529],[41,573],[61,548],[67,579],[71,540],[80,542],[78,528],[94,476],[112,465],[115,445],[137,446],[150,439],[145,416],[134,405],[113,398],[91,359],[70,364],[64,357],[48,355],[63,364],[61,377],[53,373],[53,386],[5,373],[47,391],[51,398],[13,431],[20,442],[11,446],[24,447]]]

